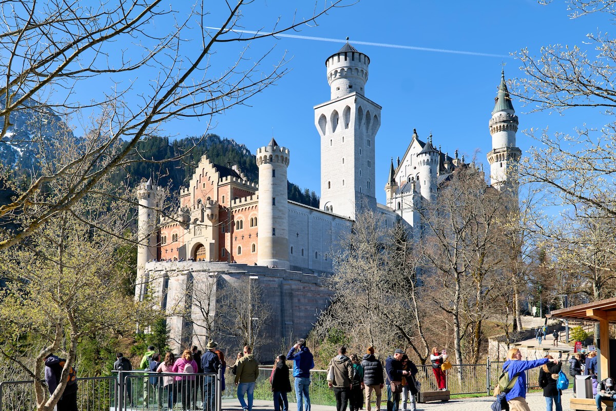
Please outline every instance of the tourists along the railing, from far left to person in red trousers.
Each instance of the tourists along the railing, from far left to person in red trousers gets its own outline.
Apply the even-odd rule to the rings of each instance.
[[[445,374],[441,364],[447,359],[445,350],[432,349],[431,361],[434,377],[439,389],[445,389]],[[53,393],[59,383],[63,360],[56,356],[46,359],[46,380],[49,379],[49,391]],[[287,362],[292,362],[289,369]],[[298,411],[310,411],[310,370],[314,369],[314,357],[306,346],[306,340],[300,338],[288,353],[276,357],[274,367],[269,375],[275,411],[288,411],[287,394],[292,391],[290,377],[296,393]],[[123,353],[116,354],[113,370],[118,372],[121,387],[116,390],[115,403],[120,404],[121,396],[126,408],[137,406],[133,386],[136,381],[143,384],[142,407],[150,408],[156,404],[159,410],[195,410],[214,411],[216,404],[216,380],[221,375],[221,391],[225,390],[224,373],[227,369],[224,353],[214,341],[209,341],[205,352],[197,346],[184,349],[176,358],[171,351],[164,354],[156,352],[154,346],[148,346],[137,370],[144,373],[138,376],[131,361]],[[243,411],[253,410],[254,388],[259,377],[259,364],[245,346],[237,353],[235,363],[230,367],[237,387],[237,397]],[[415,411],[415,396],[420,384],[416,380],[418,368],[400,348],[387,356],[384,362],[376,356],[375,348],[370,346],[366,353],[347,356],[347,349],[339,347],[327,368],[328,386],[336,397],[337,411],[371,411],[374,397],[376,410],[381,410],[381,399],[385,390],[387,411]],[[57,411],[77,411],[77,385],[73,381],[65,389]],[[402,409],[400,403],[402,402]]]

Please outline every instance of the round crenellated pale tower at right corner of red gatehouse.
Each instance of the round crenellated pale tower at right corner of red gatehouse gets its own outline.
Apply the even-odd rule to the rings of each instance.
[[[257,150],[259,167],[259,249],[257,264],[289,269],[289,205],[286,168],[289,149],[274,138]]]

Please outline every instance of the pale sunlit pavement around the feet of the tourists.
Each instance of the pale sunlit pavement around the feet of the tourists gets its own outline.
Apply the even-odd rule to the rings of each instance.
[[[569,399],[573,396],[573,391],[568,389],[562,394],[562,410],[569,410]],[[291,397],[289,397],[291,399]],[[546,409],[543,393],[530,393],[526,395],[526,401],[529,403],[532,411],[543,411]],[[477,398],[456,398],[448,402],[428,402],[426,404],[417,404],[417,411],[424,410],[439,410],[439,411],[488,411],[490,405],[494,402],[494,397],[477,397]],[[386,402],[381,404],[381,410],[387,409]],[[241,411],[240,403],[235,400],[227,399],[222,402],[222,409],[225,411]],[[255,401],[253,409],[255,411],[272,411],[274,404],[271,401]],[[336,407],[331,405],[315,405],[310,406],[311,411],[336,411]],[[297,405],[289,402],[289,411],[296,411]],[[348,410],[348,408],[347,408]],[[374,408],[373,408],[374,410]]]

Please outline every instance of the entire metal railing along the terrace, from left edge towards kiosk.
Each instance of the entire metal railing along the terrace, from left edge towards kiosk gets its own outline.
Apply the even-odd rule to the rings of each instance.
[[[452,364],[448,370],[447,389],[452,395],[490,394],[503,370],[502,361],[485,364]],[[431,365],[419,365],[416,375],[421,391],[436,391],[436,378]],[[254,399],[272,400],[269,384],[272,367],[260,367],[254,388]],[[310,372],[310,401],[333,405],[333,391],[328,388],[325,370]],[[538,387],[539,368],[526,372],[527,389]],[[191,378],[192,377],[192,378]],[[220,411],[223,399],[237,397],[229,369],[224,375],[148,373],[133,370],[114,372],[108,377],[77,378],[79,411],[164,411],[171,409],[203,409]],[[295,398],[291,378],[290,401]],[[222,386],[225,385],[223,391]],[[211,401],[206,401],[212,399]],[[204,404],[205,402],[205,404]],[[205,405],[205,407],[203,407]],[[0,382],[0,411],[31,411],[36,409],[33,381]]]

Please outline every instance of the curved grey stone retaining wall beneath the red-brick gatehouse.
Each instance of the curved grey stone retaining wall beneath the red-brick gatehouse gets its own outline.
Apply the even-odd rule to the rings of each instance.
[[[211,302],[215,302],[214,310],[220,303],[219,290],[248,281],[249,276],[259,277],[252,281],[257,281],[262,301],[271,309],[270,318],[264,324],[263,334],[267,340],[263,341],[265,344],[256,353],[261,361],[270,361],[276,354],[281,354],[279,351],[283,342],[284,346],[290,347],[296,338],[306,337],[333,295],[323,287],[322,276],[265,266],[192,261],[150,262],[147,263],[147,272],[150,277],[161,278],[160,284],[164,284],[164,287],[156,289],[155,297],[161,301],[166,299],[163,308],[169,314],[170,346],[176,353],[193,343],[203,348],[209,339],[205,332],[203,311],[195,308],[197,298],[202,305],[207,298],[203,290],[208,289],[208,278],[217,277],[211,294]],[[193,293],[186,295],[192,281],[195,284]],[[201,294],[197,295],[196,289],[201,289]],[[215,322],[216,311],[210,311],[210,317]],[[242,343],[230,338],[219,338],[217,342],[227,354]]]

